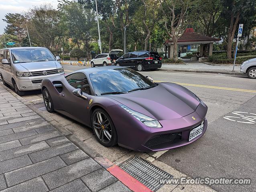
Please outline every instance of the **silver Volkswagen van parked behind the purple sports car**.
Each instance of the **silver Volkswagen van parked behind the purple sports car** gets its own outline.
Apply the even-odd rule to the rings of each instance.
[[[40,90],[44,78],[64,74],[62,65],[43,47],[17,47],[0,50],[0,76],[4,85],[22,96],[27,90]]]

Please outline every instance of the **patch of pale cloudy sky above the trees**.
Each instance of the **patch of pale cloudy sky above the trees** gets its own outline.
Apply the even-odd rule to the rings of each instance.
[[[21,13],[29,10],[33,6],[41,4],[52,4],[53,8],[57,8],[57,0],[0,0],[0,34],[4,32],[7,25],[4,19],[7,13]]]

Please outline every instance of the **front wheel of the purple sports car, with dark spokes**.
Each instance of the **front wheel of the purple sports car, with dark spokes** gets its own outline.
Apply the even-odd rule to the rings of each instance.
[[[99,117],[101,120],[98,120]],[[91,125],[96,139],[100,144],[105,147],[111,147],[117,144],[116,128],[105,110],[97,108],[93,111]]]

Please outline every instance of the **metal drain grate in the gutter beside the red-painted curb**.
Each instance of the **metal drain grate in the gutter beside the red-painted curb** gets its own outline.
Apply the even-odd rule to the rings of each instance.
[[[156,191],[163,186],[159,182],[160,179],[173,177],[138,156],[123,162],[119,167],[152,191]]]

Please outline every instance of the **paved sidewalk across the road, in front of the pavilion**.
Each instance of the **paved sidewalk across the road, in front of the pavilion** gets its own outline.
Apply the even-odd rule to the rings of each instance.
[[[235,66],[236,72],[231,72],[233,66],[212,66],[196,61],[185,61],[186,65],[165,65],[163,64],[160,70],[176,71],[176,72],[201,72],[201,73],[221,73],[231,75],[245,75],[240,73],[240,66]]]

